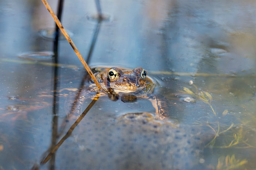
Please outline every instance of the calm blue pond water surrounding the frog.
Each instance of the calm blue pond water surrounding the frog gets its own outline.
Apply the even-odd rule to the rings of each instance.
[[[67,41],[57,61],[18,58],[56,51],[39,35],[54,27],[44,5],[1,1],[1,169],[255,169],[255,1],[101,3],[108,22],[88,19],[94,1],[64,3],[63,25],[83,57],[90,66],[143,67],[158,85],[136,102],[101,95],[83,115],[96,93]]]

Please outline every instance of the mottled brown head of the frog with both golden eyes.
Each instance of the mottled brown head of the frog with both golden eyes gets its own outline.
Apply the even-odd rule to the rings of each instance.
[[[121,70],[112,67],[98,74],[98,78],[107,88],[112,88],[116,93],[130,93],[146,87],[147,72],[142,67],[133,70]]]

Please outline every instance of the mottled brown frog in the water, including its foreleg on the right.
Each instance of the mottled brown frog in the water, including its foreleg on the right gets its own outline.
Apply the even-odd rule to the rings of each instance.
[[[135,102],[138,98],[146,98],[155,108],[153,114],[156,119],[167,119],[166,103],[153,94],[158,82],[148,76],[142,67],[127,69],[122,67],[92,67],[94,76],[102,88],[108,92],[113,101],[121,98],[124,103]],[[92,80],[91,80],[92,81]],[[96,86],[94,84],[91,87]],[[152,115],[151,115],[152,117]]]

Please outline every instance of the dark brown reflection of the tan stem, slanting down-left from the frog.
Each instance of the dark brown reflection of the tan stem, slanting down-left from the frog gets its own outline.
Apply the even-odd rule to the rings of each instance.
[[[83,119],[83,117],[88,113],[88,111],[91,109],[91,107],[93,107],[93,105],[96,103],[96,101],[98,100],[100,96],[100,93],[97,92],[96,96],[94,97],[93,101],[91,101],[91,103],[89,104],[89,106],[84,110],[84,112],[82,113],[82,115],[80,115],[78,117],[78,119],[75,121],[75,123],[69,128],[67,134],[65,136],[63,136],[63,138],[59,141],[59,143],[57,143],[53,149],[50,151],[50,153],[47,155],[47,157],[41,162],[41,163],[46,163],[49,161],[49,159],[53,156],[53,154],[59,149],[59,147],[61,146],[61,144],[71,135],[71,133],[73,132],[73,130],[75,129],[75,127],[80,123],[80,121]]]

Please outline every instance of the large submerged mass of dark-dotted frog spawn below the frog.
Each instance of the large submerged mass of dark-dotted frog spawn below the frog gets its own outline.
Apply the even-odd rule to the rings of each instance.
[[[60,169],[192,169],[199,163],[203,145],[195,128],[155,120],[149,113],[127,113],[112,120],[96,113],[87,118],[74,133],[76,157]],[[65,152],[71,151],[65,147]]]

